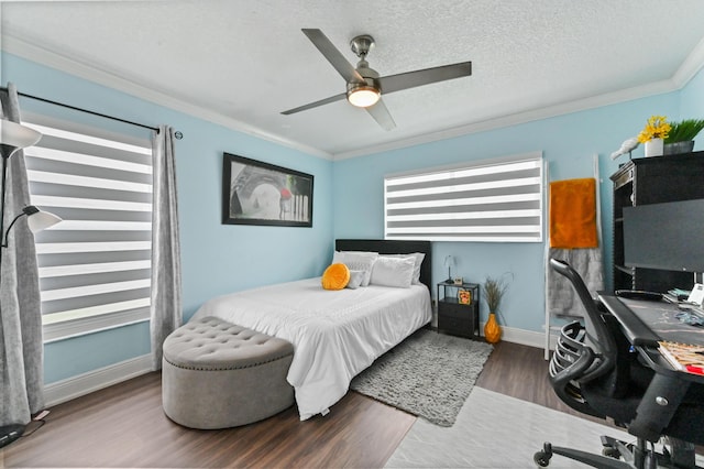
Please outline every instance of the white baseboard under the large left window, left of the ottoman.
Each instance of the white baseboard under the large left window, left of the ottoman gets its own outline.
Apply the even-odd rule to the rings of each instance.
[[[44,386],[47,407],[80,397],[152,371],[152,356],[143,355],[87,373],[55,381]]]

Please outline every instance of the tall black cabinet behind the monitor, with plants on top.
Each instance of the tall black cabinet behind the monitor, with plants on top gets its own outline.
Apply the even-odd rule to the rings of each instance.
[[[614,184],[614,290],[691,288],[691,273],[627,268],[624,207],[704,198],[704,152],[635,159],[610,176]],[[653,229],[657,221],[653,220]]]

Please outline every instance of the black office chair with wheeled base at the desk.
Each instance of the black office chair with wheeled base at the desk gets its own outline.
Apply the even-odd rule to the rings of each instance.
[[[570,407],[610,417],[636,443],[602,436],[602,455],[546,443],[535,462],[547,467],[552,455],[561,455],[596,468],[695,468],[694,445],[704,444],[702,386],[688,389],[640,363],[617,320],[600,310],[580,274],[564,261],[551,259],[550,266],[571,281],[586,309],[583,325],[575,320],[562,327],[550,382]],[[668,436],[667,445],[658,454],[653,444],[662,436]]]

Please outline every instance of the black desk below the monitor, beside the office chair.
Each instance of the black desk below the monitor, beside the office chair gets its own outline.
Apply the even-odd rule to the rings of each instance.
[[[704,346],[704,329],[679,324],[674,304],[618,298],[600,292],[598,299],[618,320],[634,349],[653,371],[653,378],[638,405],[628,433],[656,441],[670,424],[675,411],[692,386],[704,384],[704,375],[673,368],[658,351],[658,340]]]

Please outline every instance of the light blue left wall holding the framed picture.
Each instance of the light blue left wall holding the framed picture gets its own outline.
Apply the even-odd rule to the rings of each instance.
[[[1,81],[29,95],[150,126],[167,123],[176,141],[180,216],[183,302],[187,320],[208,298],[256,285],[319,275],[332,252],[332,162],[226,129],[136,99],[95,83],[1,56]],[[197,92],[197,90],[194,90]],[[106,129],[135,132],[109,120],[22,99],[23,111],[52,113]],[[136,130],[136,132],[143,132]],[[234,153],[315,176],[314,227],[221,225],[222,153]],[[141,324],[45,346],[45,382],[148,353],[148,326]]]

